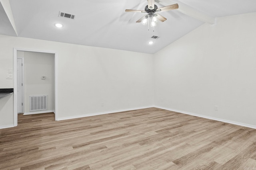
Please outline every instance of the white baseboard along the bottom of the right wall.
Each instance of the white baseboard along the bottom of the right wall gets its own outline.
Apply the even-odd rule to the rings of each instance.
[[[246,124],[246,123],[240,123],[240,122],[230,121],[230,120],[226,120],[226,119],[219,119],[219,118],[216,118],[216,117],[199,115],[199,114],[190,113],[190,112],[187,112],[187,111],[180,111],[180,110],[170,109],[170,108],[166,108],[166,107],[160,107],[160,106],[154,106],[154,107],[159,108],[159,109],[169,110],[169,111],[175,111],[175,112],[178,112],[178,113],[184,113],[184,114],[187,114],[187,115],[193,115],[193,116],[196,116],[196,117],[202,117],[202,118],[206,118],[206,119],[222,121],[222,122],[225,122],[225,123],[230,123],[230,124],[234,124],[234,125],[239,125],[239,126],[250,127],[250,128],[256,129],[255,125],[249,125],[249,124]]]

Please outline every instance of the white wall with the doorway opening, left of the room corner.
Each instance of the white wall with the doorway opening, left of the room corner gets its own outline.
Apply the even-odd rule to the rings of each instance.
[[[0,35],[0,48],[4,75],[12,68],[13,48],[58,54],[59,119],[153,105],[153,55],[6,35]],[[13,88],[5,77],[1,84]],[[9,112],[0,119],[12,120],[13,108]]]

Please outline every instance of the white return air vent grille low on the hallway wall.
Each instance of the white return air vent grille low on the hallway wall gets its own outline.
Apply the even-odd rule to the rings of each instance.
[[[30,111],[47,110],[47,96],[29,96]]]

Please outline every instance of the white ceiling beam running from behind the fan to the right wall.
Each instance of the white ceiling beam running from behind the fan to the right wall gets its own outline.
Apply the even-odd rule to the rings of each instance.
[[[215,17],[209,16],[208,14],[205,14],[204,12],[198,11],[195,8],[192,8],[191,6],[188,6],[187,4],[184,4],[178,0],[158,0],[158,1],[159,1],[159,4],[162,4],[162,5],[178,4],[179,8],[177,10],[179,12],[182,12],[183,14],[186,14],[187,16],[191,16],[197,20],[204,21],[211,25],[216,24]]]

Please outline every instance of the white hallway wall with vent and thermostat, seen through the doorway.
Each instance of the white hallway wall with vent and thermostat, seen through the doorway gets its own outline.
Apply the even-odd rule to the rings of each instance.
[[[24,58],[24,113],[30,112],[29,96],[47,95],[47,110],[54,110],[54,54],[18,51],[17,57]]]

